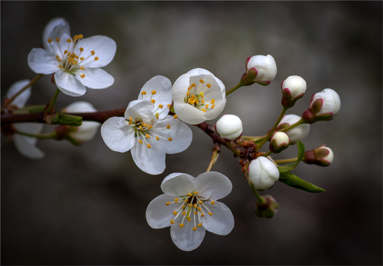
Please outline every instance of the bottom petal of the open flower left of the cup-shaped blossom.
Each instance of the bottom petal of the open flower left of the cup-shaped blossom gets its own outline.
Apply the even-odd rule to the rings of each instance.
[[[136,165],[145,173],[158,175],[165,170],[165,151],[153,145],[150,149],[138,143],[131,149],[132,157]]]

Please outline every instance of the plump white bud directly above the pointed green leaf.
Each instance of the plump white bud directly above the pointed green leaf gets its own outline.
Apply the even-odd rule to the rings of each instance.
[[[264,190],[271,188],[279,179],[277,166],[266,157],[258,157],[252,160],[246,170],[247,181],[254,188]]]

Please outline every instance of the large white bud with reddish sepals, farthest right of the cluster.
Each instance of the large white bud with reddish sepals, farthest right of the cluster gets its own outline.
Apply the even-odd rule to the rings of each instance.
[[[304,111],[302,118],[309,124],[316,121],[329,121],[339,113],[339,110],[338,93],[332,89],[324,89],[311,97],[309,109]]]

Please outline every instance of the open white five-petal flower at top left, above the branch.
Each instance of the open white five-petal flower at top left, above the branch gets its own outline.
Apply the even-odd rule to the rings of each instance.
[[[114,83],[114,78],[100,69],[116,54],[113,39],[101,35],[83,39],[82,34],[71,38],[69,23],[64,18],[49,21],[43,38],[44,49],[32,49],[28,65],[36,73],[54,73],[56,85],[63,93],[81,96],[85,87],[104,89]]]

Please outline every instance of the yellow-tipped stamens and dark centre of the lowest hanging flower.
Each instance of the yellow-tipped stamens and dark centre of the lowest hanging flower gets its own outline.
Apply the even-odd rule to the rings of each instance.
[[[174,224],[178,216],[182,215],[182,222],[179,224],[180,228],[182,228],[185,226],[185,219],[188,222],[191,222],[191,215],[193,215],[193,231],[196,231],[198,227],[202,226],[202,220],[205,219],[203,218],[205,216],[203,212],[213,215],[213,213],[211,213],[209,208],[206,206],[205,202],[210,202],[214,205],[214,201],[212,199],[205,199],[198,196],[198,191],[193,191],[185,196],[175,198],[173,202],[166,202],[165,204],[167,206],[171,206],[170,204],[176,204],[176,206],[178,206],[177,209],[174,208],[175,211],[173,211],[173,214],[175,215],[175,218],[170,220],[170,224]]]

